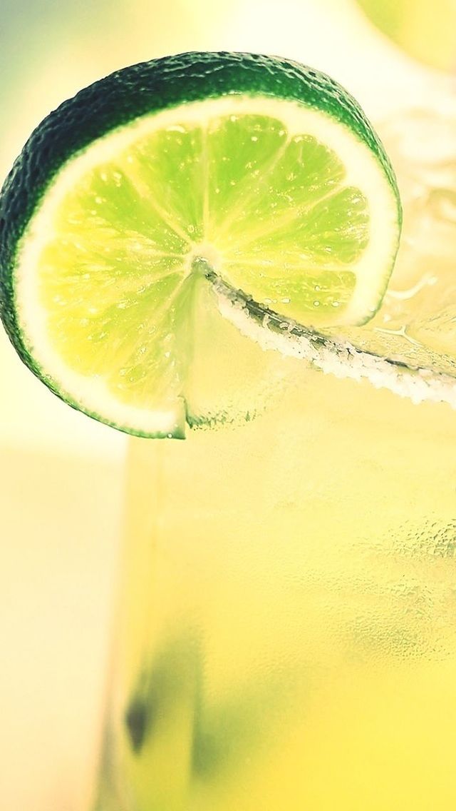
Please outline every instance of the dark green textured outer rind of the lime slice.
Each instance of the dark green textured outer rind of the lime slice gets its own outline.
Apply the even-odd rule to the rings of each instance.
[[[401,208],[394,171],[360,106],[330,77],[288,59],[261,54],[188,53],[126,67],[63,102],[32,133],[0,195],[0,315],[15,350],[29,369],[68,405],[137,436],[169,436],[132,430],[96,414],[62,391],[32,357],[15,307],[15,265],[20,238],[54,175],[95,139],[144,114],[223,96],[269,96],[298,101],[343,123],[376,155]],[[385,285],[387,279],[385,281]],[[176,425],[173,436],[183,436]]]

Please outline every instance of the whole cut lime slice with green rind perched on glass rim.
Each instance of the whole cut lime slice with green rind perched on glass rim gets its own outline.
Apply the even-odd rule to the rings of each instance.
[[[16,161],[3,320],[70,405],[183,436],[214,285],[312,327],[362,324],[400,217],[381,144],[332,79],[249,54],[147,62],[65,102]]]

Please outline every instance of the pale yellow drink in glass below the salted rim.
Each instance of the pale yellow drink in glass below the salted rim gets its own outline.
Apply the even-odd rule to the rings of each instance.
[[[456,414],[296,377],[131,441],[101,811],[456,804]]]

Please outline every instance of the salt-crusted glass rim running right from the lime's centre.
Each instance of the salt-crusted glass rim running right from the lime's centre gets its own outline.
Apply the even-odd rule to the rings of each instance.
[[[456,410],[456,380],[451,375],[356,349],[349,341],[339,341],[313,332],[296,321],[259,307],[241,291],[233,291],[216,278],[214,290],[219,310],[240,332],[256,341],[262,350],[275,350],[300,358],[325,375],[351,380],[369,380],[375,388],[387,388],[414,404],[445,402]]]

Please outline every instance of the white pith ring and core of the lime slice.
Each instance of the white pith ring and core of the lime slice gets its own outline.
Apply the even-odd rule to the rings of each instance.
[[[369,201],[369,244],[356,264],[349,268],[356,273],[356,288],[345,308],[340,324],[353,324],[360,320],[366,307],[377,307],[385,285],[385,268],[390,268],[397,242],[397,204],[383,169],[369,147],[343,124],[315,109],[296,102],[270,97],[241,97],[232,95],[207,99],[149,114],[135,122],[119,127],[100,138],[59,170],[45,192],[40,208],[36,210],[19,244],[15,268],[15,297],[23,340],[36,362],[52,379],[62,393],[83,410],[99,414],[118,426],[133,431],[173,433],[182,419],[183,403],[176,410],[150,410],[126,405],[117,400],[100,377],[87,377],[68,367],[54,348],[46,326],[46,311],[40,303],[39,274],[36,267],[40,253],[55,235],[54,217],[66,194],[75,187],[79,178],[109,162],[119,152],[126,151],[137,139],[153,131],[194,123],[205,127],[212,120],[227,115],[261,114],[278,118],[293,135],[313,135],[317,141],[332,149],[343,162],[346,175],[341,187],[357,187]],[[223,257],[216,256],[215,248],[204,242],[192,245],[185,267],[190,272],[191,257],[202,255],[223,277]]]

